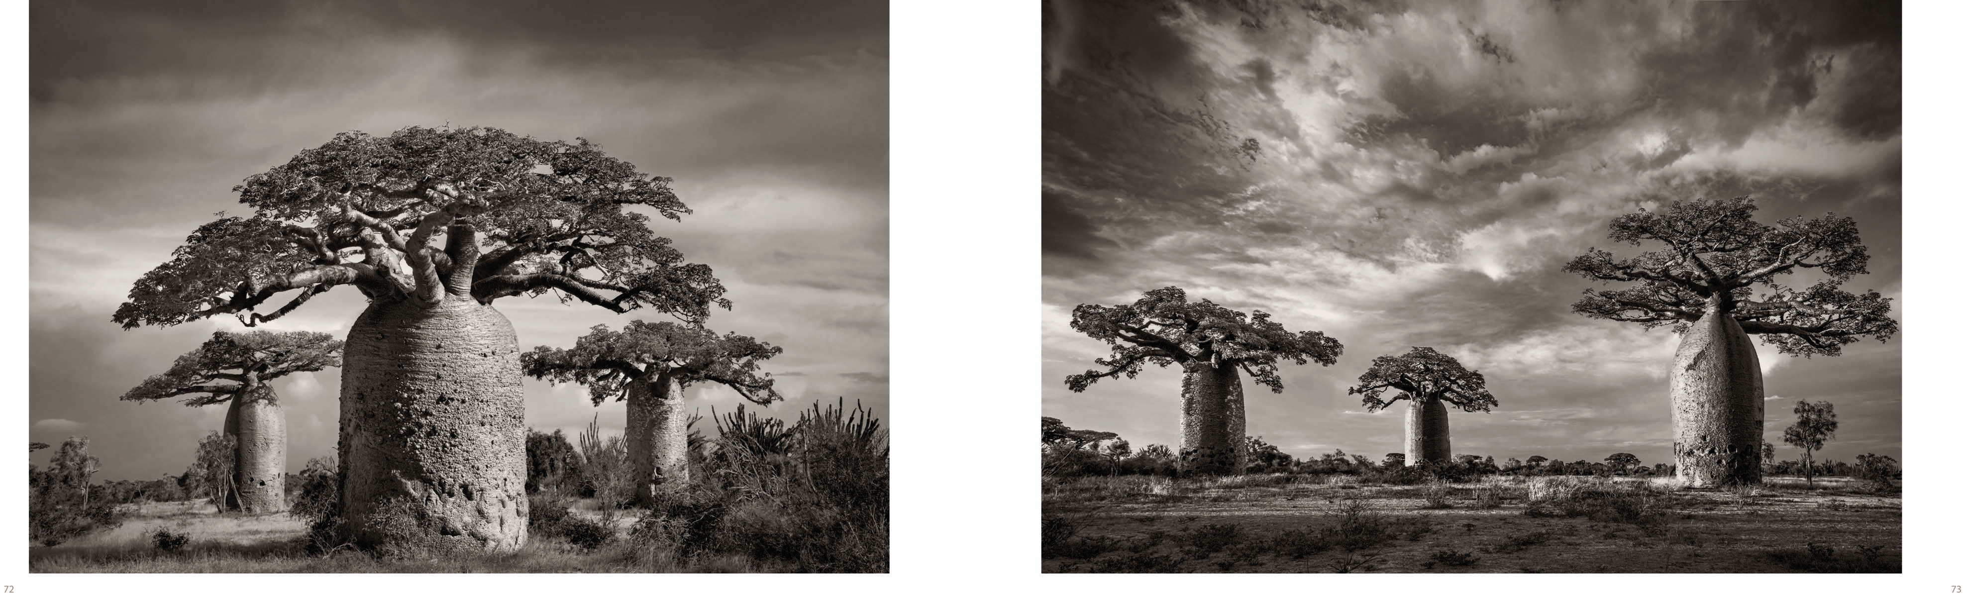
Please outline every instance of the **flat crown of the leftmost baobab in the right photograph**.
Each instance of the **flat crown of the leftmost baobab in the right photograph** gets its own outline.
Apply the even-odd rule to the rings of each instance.
[[[1174,286],[1145,292],[1127,305],[1078,305],[1072,325],[1109,343],[1113,351],[1107,359],[1095,359],[1095,365],[1107,370],[1089,368],[1068,376],[1068,388],[1074,392],[1087,390],[1101,378],[1135,378],[1145,363],[1156,366],[1208,363],[1239,366],[1277,394],[1284,390],[1279,378],[1280,359],[1294,365],[1308,361],[1334,365],[1342,355],[1342,343],[1324,333],[1286,331],[1265,311],[1247,317],[1210,299],[1192,303],[1184,299],[1184,290]]]

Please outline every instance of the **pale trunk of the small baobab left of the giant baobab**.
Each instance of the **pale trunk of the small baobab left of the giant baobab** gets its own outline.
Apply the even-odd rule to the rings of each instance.
[[[288,420],[274,388],[258,386],[232,396],[227,408],[227,435],[232,435],[234,508],[252,514],[288,510]]]

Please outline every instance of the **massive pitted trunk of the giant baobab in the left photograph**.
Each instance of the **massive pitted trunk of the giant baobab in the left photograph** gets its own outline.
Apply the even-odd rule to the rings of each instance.
[[[492,307],[370,303],[343,357],[343,534],[362,548],[526,544],[520,351]]]

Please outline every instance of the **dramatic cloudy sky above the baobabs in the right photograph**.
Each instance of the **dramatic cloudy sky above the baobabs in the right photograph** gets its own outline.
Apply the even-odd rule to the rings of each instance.
[[[1040,388],[1074,428],[1178,443],[1176,368],[1062,378],[1107,355],[1074,305],[1180,286],[1346,345],[1284,366],[1284,394],[1247,380],[1247,431],[1296,457],[1401,451],[1407,406],[1365,414],[1346,388],[1436,347],[1499,398],[1450,416],[1456,453],[1669,461],[1676,337],[1574,315],[1600,286],[1560,266],[1645,250],[1608,221],[1674,199],[1854,217],[1873,260],[1846,288],[1901,319],[1895,4],[1111,4],[1044,16]],[[1759,359],[1781,457],[1797,400],[1840,414],[1826,457],[1901,457],[1899,337]]]

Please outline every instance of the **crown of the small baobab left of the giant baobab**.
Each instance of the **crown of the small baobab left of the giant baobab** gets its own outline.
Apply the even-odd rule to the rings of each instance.
[[[217,331],[199,349],[177,357],[165,372],[144,378],[122,400],[185,396],[185,406],[232,400],[240,392],[266,392],[290,372],[343,365],[343,341],[317,331]]]

